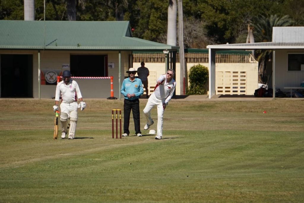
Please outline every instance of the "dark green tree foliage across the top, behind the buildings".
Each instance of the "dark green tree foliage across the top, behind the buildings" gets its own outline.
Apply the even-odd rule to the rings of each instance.
[[[123,17],[123,20],[130,21],[134,37],[166,41],[168,0],[75,2],[76,20],[107,21]],[[248,23],[254,22],[254,17],[260,15],[289,15],[296,26],[303,26],[303,5],[302,0],[183,0],[184,30],[193,30],[184,34],[187,37],[185,47],[206,48],[206,44],[235,43],[239,36],[247,33]],[[68,19],[67,0],[46,0],[45,9],[46,20]],[[43,11],[43,0],[35,0],[36,20],[43,20]],[[0,0],[0,20],[3,19],[23,20],[23,1]]]

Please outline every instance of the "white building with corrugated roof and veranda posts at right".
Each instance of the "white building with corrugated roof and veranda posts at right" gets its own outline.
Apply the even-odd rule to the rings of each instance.
[[[304,27],[273,27],[272,42],[208,45],[209,98],[216,94],[217,50],[272,50],[272,76],[269,87],[288,91],[304,81]]]

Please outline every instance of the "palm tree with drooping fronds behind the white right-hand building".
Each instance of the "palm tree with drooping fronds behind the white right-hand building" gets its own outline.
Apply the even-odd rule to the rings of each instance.
[[[277,15],[258,16],[253,20],[254,40],[255,42],[271,42],[272,41],[272,27],[291,26],[294,21],[288,15],[278,17]],[[257,50],[255,56],[259,61],[259,82],[267,82],[266,63],[271,60],[271,50]],[[271,74],[271,73],[270,73]]]

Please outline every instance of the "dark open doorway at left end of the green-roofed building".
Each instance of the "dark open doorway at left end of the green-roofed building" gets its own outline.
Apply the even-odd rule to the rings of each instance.
[[[1,54],[1,97],[33,98],[33,55]]]

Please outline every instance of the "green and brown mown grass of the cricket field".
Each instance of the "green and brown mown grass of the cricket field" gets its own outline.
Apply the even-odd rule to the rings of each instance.
[[[123,100],[87,100],[75,140],[53,140],[53,100],[1,101],[0,202],[304,200],[303,100],[173,100],[162,140],[136,137],[132,116],[112,139]]]

